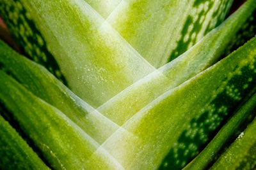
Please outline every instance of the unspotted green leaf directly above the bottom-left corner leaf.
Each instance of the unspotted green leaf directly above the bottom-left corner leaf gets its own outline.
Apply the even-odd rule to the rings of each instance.
[[[53,169],[122,169],[60,110],[33,96],[3,71],[0,101]]]

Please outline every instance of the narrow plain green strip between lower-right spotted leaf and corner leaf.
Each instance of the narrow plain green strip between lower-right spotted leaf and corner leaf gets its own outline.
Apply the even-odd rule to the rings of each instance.
[[[256,94],[254,94],[237,112],[228,120],[216,136],[211,140],[202,152],[186,166],[184,169],[206,169],[207,166],[218,155],[221,148],[230,140],[236,131],[240,131],[241,126],[248,120],[255,117]],[[228,167],[228,166],[227,166]],[[252,168],[253,169],[253,168]]]

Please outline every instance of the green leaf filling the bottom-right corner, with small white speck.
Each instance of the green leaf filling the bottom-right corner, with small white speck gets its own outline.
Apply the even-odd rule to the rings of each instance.
[[[255,169],[256,167],[256,118],[236,141],[230,145],[211,169]]]

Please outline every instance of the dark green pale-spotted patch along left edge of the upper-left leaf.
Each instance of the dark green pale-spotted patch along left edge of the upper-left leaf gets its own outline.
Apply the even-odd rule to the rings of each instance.
[[[36,28],[35,22],[31,20],[31,14],[22,6],[19,0],[1,1],[1,17],[8,25],[8,29],[13,33],[17,43],[28,56],[51,71],[67,85],[65,77],[60,72],[60,66],[47,48],[42,33]]]

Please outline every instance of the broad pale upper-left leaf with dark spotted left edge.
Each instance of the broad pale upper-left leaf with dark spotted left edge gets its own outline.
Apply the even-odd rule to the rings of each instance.
[[[155,70],[84,0],[0,4],[6,24],[31,59],[67,80],[93,107]]]

